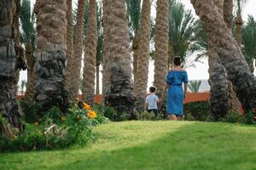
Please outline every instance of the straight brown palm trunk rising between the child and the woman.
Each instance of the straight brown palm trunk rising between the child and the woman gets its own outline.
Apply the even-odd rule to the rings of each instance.
[[[159,0],[156,3],[156,23],[155,23],[155,58],[154,58],[154,86],[158,94],[162,93],[166,74],[168,71],[168,11],[169,1]]]

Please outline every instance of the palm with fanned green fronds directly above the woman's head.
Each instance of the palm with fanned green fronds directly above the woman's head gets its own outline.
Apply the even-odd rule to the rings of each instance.
[[[169,64],[175,56],[185,61],[200,49],[195,43],[195,16],[191,10],[185,10],[182,3],[172,3],[169,10]]]

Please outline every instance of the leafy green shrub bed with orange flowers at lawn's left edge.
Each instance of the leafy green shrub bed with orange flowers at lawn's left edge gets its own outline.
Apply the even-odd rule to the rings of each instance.
[[[44,114],[40,122],[26,123],[23,133],[0,136],[0,151],[53,150],[73,144],[84,145],[94,139],[93,126],[108,122],[89,106],[85,109],[73,105],[66,114],[53,107]]]

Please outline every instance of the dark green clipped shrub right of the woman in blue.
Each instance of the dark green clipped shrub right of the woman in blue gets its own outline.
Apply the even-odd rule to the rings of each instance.
[[[193,117],[194,121],[206,121],[209,116],[210,105],[208,102],[194,102],[184,105],[185,119]]]

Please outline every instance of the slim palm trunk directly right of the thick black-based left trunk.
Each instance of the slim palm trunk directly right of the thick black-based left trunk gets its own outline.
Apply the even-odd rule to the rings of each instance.
[[[74,56],[73,56],[73,8],[72,0],[67,0],[67,71],[65,78],[65,88],[70,94],[72,84],[73,84],[73,65],[74,65]],[[71,99],[71,95],[68,95]]]

